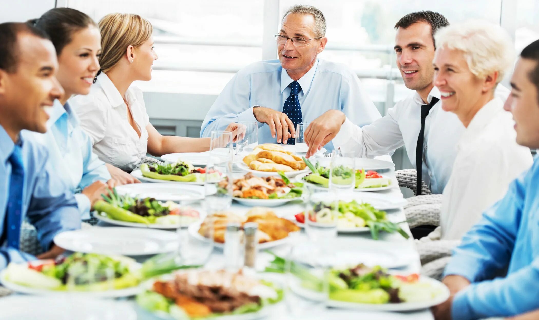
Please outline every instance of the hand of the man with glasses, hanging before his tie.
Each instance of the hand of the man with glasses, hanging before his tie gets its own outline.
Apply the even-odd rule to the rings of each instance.
[[[282,143],[286,144],[289,138],[296,137],[294,123],[285,113],[257,106],[257,108],[253,108],[253,115],[258,122],[267,123],[272,138],[275,138],[275,134],[277,134],[277,143],[281,143],[282,140]]]

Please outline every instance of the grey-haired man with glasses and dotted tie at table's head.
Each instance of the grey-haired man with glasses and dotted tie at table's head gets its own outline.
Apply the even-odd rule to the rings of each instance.
[[[360,80],[348,67],[317,59],[326,48],[326,20],[313,6],[288,9],[275,35],[279,60],[241,69],[211,106],[201,137],[231,122],[258,122],[260,143],[295,143],[298,123],[327,110],[343,111],[356,125],[380,118]],[[264,125],[267,124],[267,125]],[[333,144],[326,148],[333,150]]]

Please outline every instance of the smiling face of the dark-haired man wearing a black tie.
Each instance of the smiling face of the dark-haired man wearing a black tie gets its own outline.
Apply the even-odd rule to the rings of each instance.
[[[406,88],[430,91],[434,74],[432,68],[434,41],[431,25],[427,22],[417,22],[406,29],[397,29],[395,53],[397,67]]]

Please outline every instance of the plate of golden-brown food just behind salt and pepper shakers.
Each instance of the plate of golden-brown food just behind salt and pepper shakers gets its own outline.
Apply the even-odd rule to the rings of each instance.
[[[207,229],[213,227],[213,240],[217,247],[223,247],[225,243],[226,225],[236,222],[242,226],[248,222],[258,223],[257,239],[260,248],[273,247],[282,244],[292,232],[300,231],[295,223],[285,218],[280,218],[268,208],[256,207],[247,212],[245,216],[233,212],[218,212],[204,218],[202,223],[189,226],[189,233],[198,239],[205,239]]]

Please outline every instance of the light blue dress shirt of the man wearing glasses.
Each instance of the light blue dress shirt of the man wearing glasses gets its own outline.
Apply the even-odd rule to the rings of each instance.
[[[257,122],[253,106],[264,106],[282,112],[290,95],[288,85],[294,80],[279,60],[252,63],[241,69],[223,89],[204,119],[201,137],[210,137],[214,130],[224,130],[232,122]],[[358,126],[380,118],[374,103],[363,90],[357,75],[341,63],[317,60],[299,80],[298,98],[303,122],[311,122],[322,113],[336,109],[345,113]],[[277,143],[267,124],[259,123],[259,143]],[[333,143],[325,148],[333,150]]]

